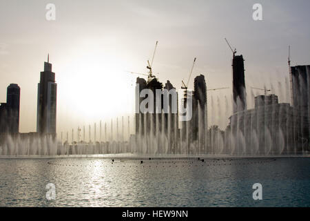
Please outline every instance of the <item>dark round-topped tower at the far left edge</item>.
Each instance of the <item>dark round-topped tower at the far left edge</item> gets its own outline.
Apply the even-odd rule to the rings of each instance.
[[[8,86],[6,103],[0,106],[0,133],[19,133],[20,94],[17,84]]]

